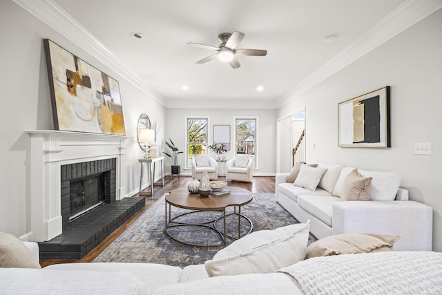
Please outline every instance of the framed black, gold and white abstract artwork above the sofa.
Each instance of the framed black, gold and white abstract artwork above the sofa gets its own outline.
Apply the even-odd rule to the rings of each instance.
[[[339,146],[390,147],[390,86],[340,102],[338,124]]]

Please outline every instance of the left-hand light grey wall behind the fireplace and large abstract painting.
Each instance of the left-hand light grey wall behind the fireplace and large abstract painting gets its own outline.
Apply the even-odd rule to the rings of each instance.
[[[127,194],[136,192],[140,181],[137,159],[142,151],[136,142],[136,123],[144,112],[160,125],[164,137],[164,107],[118,75],[108,66],[72,44],[12,1],[0,1],[0,231],[15,236],[29,234],[30,188],[27,130],[51,130],[48,74],[43,39],[49,38],[71,53],[119,81],[127,140]]]

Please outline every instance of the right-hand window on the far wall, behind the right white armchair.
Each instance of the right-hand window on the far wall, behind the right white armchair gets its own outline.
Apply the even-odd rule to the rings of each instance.
[[[256,129],[258,128],[258,119],[238,117],[235,119],[235,153],[247,154],[253,158],[253,168],[258,166],[258,157],[256,153]]]

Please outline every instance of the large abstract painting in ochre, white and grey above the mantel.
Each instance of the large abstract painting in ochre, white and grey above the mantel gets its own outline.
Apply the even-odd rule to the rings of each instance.
[[[118,81],[44,39],[54,129],[126,135]]]

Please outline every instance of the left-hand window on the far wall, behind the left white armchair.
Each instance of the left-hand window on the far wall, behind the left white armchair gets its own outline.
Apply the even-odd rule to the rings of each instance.
[[[207,153],[207,142],[209,135],[209,118],[188,117],[187,121],[187,149],[185,168],[191,168],[192,158],[195,155]]]

